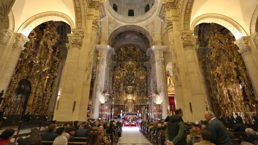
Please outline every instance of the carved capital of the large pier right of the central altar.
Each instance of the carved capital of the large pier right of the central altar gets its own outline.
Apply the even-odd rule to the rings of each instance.
[[[197,35],[193,35],[194,31],[183,30],[180,32],[183,48],[194,49],[197,46]]]

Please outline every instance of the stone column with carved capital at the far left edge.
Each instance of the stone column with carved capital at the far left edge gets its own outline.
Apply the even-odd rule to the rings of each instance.
[[[5,61],[7,61],[7,63],[4,66],[4,70],[1,73],[0,88],[1,90],[4,89],[5,92],[13,76],[21,51],[25,49],[24,44],[28,40],[29,39],[23,34],[16,34],[15,42],[12,45],[10,57],[6,58]]]

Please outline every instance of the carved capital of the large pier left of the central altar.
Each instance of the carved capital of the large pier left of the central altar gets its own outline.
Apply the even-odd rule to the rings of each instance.
[[[69,48],[70,46],[75,46],[80,49],[83,45],[85,31],[84,29],[71,29],[71,31],[71,34],[67,34],[69,40],[67,48]]]

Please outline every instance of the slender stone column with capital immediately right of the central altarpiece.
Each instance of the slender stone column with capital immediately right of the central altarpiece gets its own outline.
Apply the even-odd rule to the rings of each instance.
[[[168,96],[166,92],[166,81],[165,81],[165,68],[164,68],[164,58],[163,51],[165,51],[167,46],[155,45],[152,47],[155,55],[156,64],[156,78],[157,78],[157,91],[158,94],[154,96],[153,101],[156,104],[161,104],[162,108],[162,119],[165,119],[168,115]]]

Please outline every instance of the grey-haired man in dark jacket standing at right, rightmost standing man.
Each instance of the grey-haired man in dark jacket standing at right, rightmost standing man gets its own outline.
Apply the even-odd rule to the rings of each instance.
[[[227,133],[227,128],[215,117],[213,112],[206,111],[204,117],[209,122],[207,129],[211,133],[210,141],[212,143],[216,145],[233,145]]]

